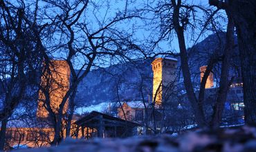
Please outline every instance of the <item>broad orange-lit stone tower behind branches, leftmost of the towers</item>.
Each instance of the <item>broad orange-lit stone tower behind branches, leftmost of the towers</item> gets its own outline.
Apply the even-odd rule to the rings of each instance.
[[[51,61],[50,70],[45,70],[41,77],[41,86],[45,92],[48,92],[50,98],[50,106],[54,113],[60,109],[60,103],[64,98],[69,88],[70,69],[66,61]],[[48,111],[46,110],[46,94],[40,89],[39,100],[37,107],[37,117],[47,118]],[[64,105],[63,113],[68,109],[68,100]]]

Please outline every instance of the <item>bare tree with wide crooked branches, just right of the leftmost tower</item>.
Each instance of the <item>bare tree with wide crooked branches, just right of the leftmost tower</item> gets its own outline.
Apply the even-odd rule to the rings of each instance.
[[[118,24],[138,17],[138,15],[125,10],[124,12],[117,12],[113,17],[109,17],[109,19],[106,17],[106,19],[100,20],[96,10],[101,8],[91,1],[45,2],[48,8],[45,9],[49,11],[44,11],[44,15],[53,21],[51,24],[51,27],[55,29],[53,37],[60,34],[60,39],[54,39],[54,41],[51,39],[53,43],[49,43],[51,44],[49,48],[54,52],[60,51],[66,54],[60,56],[60,58],[68,63],[71,70],[71,85],[62,99],[57,114],[52,113],[51,107],[47,108],[50,116],[53,116],[51,120],[53,120],[55,126],[55,140],[53,144],[57,144],[62,138],[60,131],[62,119],[64,118],[62,114],[64,105],[69,98],[71,103],[69,107],[71,109],[68,116],[66,133],[66,135],[69,135],[71,118],[74,111],[75,90],[80,81],[89,73],[90,69],[102,65],[102,63],[105,65],[106,63],[104,62],[107,59],[113,62],[129,61],[131,50],[136,52],[136,45],[131,41],[132,34],[122,28],[118,28]],[[55,13],[55,10],[51,9],[57,9],[59,12]],[[106,13],[109,9],[108,6],[107,10],[105,10]],[[92,11],[92,13],[89,14],[88,11]],[[91,18],[96,20],[95,23],[93,22],[93,26],[91,26],[90,21],[87,21],[90,15]],[[135,57],[134,54],[132,56]],[[47,95],[47,91],[44,92]]]

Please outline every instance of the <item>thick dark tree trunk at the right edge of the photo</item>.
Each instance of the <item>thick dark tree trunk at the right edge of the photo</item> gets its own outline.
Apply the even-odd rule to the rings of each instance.
[[[210,5],[225,9],[237,29],[241,75],[244,88],[244,116],[246,123],[256,124],[256,1],[209,0]]]

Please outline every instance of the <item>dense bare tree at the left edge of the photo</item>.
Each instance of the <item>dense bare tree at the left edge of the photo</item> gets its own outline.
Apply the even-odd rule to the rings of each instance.
[[[0,150],[2,150],[8,118],[24,98],[28,82],[33,82],[35,78],[33,76],[36,76],[35,69],[39,67],[42,58],[37,50],[33,30],[24,19],[26,14],[24,1],[17,1],[17,3],[1,1],[0,8],[0,83],[4,94],[3,107],[0,109],[2,122]],[[30,78],[28,73],[31,74]]]

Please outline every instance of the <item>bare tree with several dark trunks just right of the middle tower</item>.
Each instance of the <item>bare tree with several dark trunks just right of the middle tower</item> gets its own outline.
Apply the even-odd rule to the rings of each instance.
[[[152,7],[151,7],[152,8]],[[149,9],[150,10],[150,9]],[[210,122],[205,119],[205,112],[204,112],[204,100],[205,100],[205,83],[206,80],[214,68],[214,66],[219,62],[221,58],[221,53],[219,53],[220,50],[216,50],[216,52],[212,53],[210,58],[208,58],[207,61],[207,69],[204,72],[203,79],[200,84],[199,89],[199,96],[196,97],[196,91],[194,91],[194,84],[192,83],[192,74],[190,71],[189,66],[189,54],[188,50],[186,48],[187,41],[185,39],[185,32],[194,32],[196,30],[196,26],[201,26],[201,32],[196,39],[195,42],[199,40],[199,37],[201,34],[205,31],[205,29],[208,27],[208,24],[211,23],[214,20],[214,15],[219,11],[217,10],[211,10],[208,8],[205,8],[203,6],[197,5],[197,4],[190,4],[186,3],[185,1],[158,1],[156,4],[156,8],[153,8],[152,11],[155,12],[156,17],[159,17],[161,24],[159,25],[159,28],[161,30],[161,34],[159,36],[159,40],[170,40],[173,32],[175,32],[178,42],[179,42],[179,50],[180,50],[180,58],[181,58],[181,69],[183,74],[183,80],[185,85],[186,94],[188,95],[188,100],[190,101],[190,104],[192,105],[192,109],[194,111],[194,116],[196,122],[199,124],[199,127],[207,127],[210,125]],[[196,14],[196,11],[201,11],[205,13],[208,17],[206,21],[201,21],[199,14]],[[205,22],[205,23],[203,23]],[[201,23],[201,24],[200,24]],[[231,24],[231,23],[230,23]],[[232,31],[232,27],[228,26],[229,30]],[[221,66],[221,82],[227,82],[228,80],[228,70],[229,70],[229,60],[230,60],[230,54],[231,50],[230,48],[234,47],[232,44],[234,39],[232,38],[234,34],[230,32],[230,34],[227,34],[228,43],[226,46],[226,55],[227,58],[224,58]],[[156,42],[158,42],[156,41]],[[193,52],[194,48],[192,47],[190,49],[190,52]],[[225,54],[225,53],[224,53]],[[225,79],[225,80],[224,80]],[[226,101],[226,94],[228,90],[228,84],[221,84],[221,93],[219,94],[219,98],[217,99],[215,110],[219,111],[217,113],[219,117],[217,117],[217,113],[214,113],[214,116],[212,116],[215,120],[212,122],[216,122],[214,127],[219,126],[219,122],[221,121],[221,111],[223,111],[223,102]],[[221,101],[220,101],[221,100]],[[216,119],[217,118],[217,119]]]

